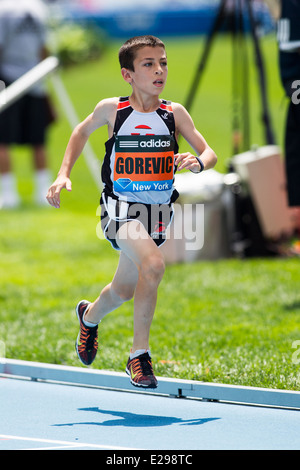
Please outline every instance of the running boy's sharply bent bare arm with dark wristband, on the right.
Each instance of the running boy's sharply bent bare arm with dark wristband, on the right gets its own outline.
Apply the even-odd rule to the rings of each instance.
[[[213,168],[217,163],[217,156],[213,149],[207,144],[204,137],[196,129],[187,110],[182,105],[174,103],[173,112],[177,134],[181,134],[195,150],[195,155],[190,152],[185,152],[178,153],[175,156],[177,170],[180,171],[186,169],[191,170],[193,173],[199,173],[202,170]],[[203,168],[201,168],[196,156],[201,159]]]

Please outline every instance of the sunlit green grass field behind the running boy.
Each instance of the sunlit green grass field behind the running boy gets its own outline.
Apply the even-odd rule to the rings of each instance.
[[[108,96],[129,94],[117,63],[120,44],[111,44],[98,62],[62,71],[80,118]],[[184,102],[202,42],[166,40],[169,79],[164,97]],[[263,41],[269,97],[281,145],[286,103],[280,86],[274,38]],[[251,49],[249,48],[249,55]],[[252,51],[251,51],[252,52]],[[231,46],[218,39],[191,110],[195,123],[226,171],[231,156]],[[250,75],[252,143],[263,141],[255,69]],[[59,119],[49,135],[55,174],[70,136]],[[106,130],[91,137],[100,159]],[[181,149],[187,146],[182,142]],[[118,254],[96,236],[98,190],[84,159],[72,173],[73,191],[63,192],[60,210],[31,202],[28,149],[14,149],[23,206],[0,213],[0,341],[9,358],[80,365],[74,349],[78,333],[74,307],[94,299],[110,282]],[[158,376],[258,387],[299,389],[293,360],[300,340],[299,260],[226,259],[167,267],[159,290],[151,334]],[[100,326],[95,368],[123,371],[132,340],[133,303],[124,304]]]

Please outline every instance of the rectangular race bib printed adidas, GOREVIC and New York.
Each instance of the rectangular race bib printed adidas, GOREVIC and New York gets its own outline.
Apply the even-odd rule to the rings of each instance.
[[[114,191],[166,191],[174,178],[171,135],[115,137]]]

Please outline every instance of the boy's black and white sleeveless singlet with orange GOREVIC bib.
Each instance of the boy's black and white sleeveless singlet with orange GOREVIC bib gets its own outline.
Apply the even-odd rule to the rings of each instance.
[[[105,144],[101,176],[106,195],[129,202],[169,204],[178,153],[172,104],[162,100],[150,113],[119,98],[113,136]]]

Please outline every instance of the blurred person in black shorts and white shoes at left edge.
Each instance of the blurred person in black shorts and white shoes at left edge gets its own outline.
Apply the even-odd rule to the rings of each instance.
[[[40,0],[0,0],[0,80],[6,87],[46,58],[46,18]],[[51,175],[45,140],[52,119],[43,83],[0,113],[0,208],[20,204],[10,154],[13,144],[32,148],[35,202],[46,202]]]

